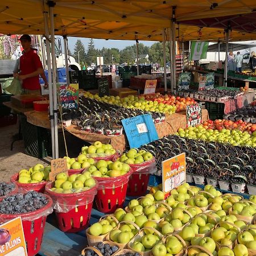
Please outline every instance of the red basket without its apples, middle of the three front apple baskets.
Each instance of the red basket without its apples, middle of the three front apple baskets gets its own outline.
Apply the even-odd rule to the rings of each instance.
[[[123,207],[131,173],[130,170],[118,177],[94,177],[98,181],[95,202],[100,212],[113,213],[115,209]]]

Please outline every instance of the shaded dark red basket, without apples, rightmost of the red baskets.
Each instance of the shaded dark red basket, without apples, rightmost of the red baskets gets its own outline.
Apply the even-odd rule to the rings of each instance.
[[[141,164],[129,164],[133,174],[130,176],[127,196],[143,196],[147,192],[150,174],[155,172],[155,158]]]

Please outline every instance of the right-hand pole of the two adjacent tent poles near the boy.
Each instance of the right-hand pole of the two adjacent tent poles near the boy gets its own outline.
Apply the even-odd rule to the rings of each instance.
[[[53,6],[49,5],[49,15],[51,24],[51,53],[52,53],[52,91],[53,91],[53,117],[54,117],[54,141],[55,141],[55,159],[59,158],[59,144],[58,144],[58,127],[57,127],[57,85],[56,85],[56,55],[55,55],[55,38],[54,38],[54,18]]]

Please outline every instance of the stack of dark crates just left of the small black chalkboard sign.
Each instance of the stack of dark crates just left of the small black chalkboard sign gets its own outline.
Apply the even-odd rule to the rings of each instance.
[[[96,71],[81,70],[78,72],[79,88],[84,90],[97,89]]]

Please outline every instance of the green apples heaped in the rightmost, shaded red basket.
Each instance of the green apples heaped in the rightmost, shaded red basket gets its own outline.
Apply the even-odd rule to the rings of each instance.
[[[137,150],[136,148],[131,148],[126,153],[122,154],[119,160],[122,163],[127,164],[141,164],[153,159],[153,155],[146,150]]]

